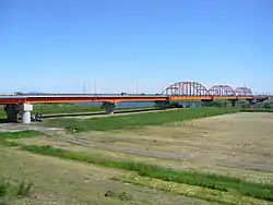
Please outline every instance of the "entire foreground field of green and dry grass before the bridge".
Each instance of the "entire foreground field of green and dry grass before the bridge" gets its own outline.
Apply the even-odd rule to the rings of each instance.
[[[78,124],[71,121],[68,126],[70,120]],[[270,205],[272,120],[271,112],[239,112],[236,108],[61,119],[61,125],[56,124],[57,119],[48,119],[47,125],[68,130],[84,122],[80,126],[84,132],[2,133],[0,166],[8,165],[2,173],[9,180],[33,183],[29,194],[13,204]],[[74,144],[76,138],[85,141]]]

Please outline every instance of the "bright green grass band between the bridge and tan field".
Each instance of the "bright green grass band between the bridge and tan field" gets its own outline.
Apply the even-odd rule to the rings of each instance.
[[[168,122],[191,120],[237,112],[238,108],[192,108],[177,109],[171,111],[158,111],[150,113],[138,113],[128,116],[116,116],[109,118],[93,119],[49,119],[45,121],[48,126],[61,126],[69,131],[109,131],[142,125],[156,125]]]

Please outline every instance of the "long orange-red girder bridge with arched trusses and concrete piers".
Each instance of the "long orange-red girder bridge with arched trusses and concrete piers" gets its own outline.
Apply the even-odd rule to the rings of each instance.
[[[155,95],[104,95],[104,94],[37,94],[37,95],[3,95],[0,105],[9,121],[17,121],[21,114],[23,123],[31,122],[33,104],[60,104],[60,102],[104,102],[107,113],[114,113],[115,104],[120,101],[155,101],[159,107],[165,107],[169,101],[212,101],[230,100],[233,106],[237,100],[263,101],[269,96],[254,96],[248,87],[233,89],[228,85],[215,85],[210,89],[198,82],[178,82]]]

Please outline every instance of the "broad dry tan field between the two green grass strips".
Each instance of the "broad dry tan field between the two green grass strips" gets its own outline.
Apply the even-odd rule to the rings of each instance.
[[[273,182],[273,113],[234,113],[182,123],[29,138],[88,154]],[[79,142],[79,141],[76,141]],[[84,145],[84,146],[81,146]],[[92,149],[90,148],[92,147]]]

